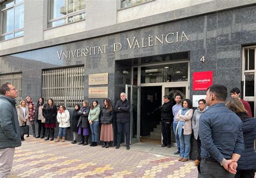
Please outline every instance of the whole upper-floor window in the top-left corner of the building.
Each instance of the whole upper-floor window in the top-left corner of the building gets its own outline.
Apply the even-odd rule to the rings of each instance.
[[[24,34],[24,0],[8,0],[2,3],[1,40],[21,37]]]

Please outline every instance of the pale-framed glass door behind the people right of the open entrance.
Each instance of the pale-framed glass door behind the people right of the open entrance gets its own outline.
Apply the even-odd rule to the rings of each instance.
[[[166,84],[162,88],[162,94],[163,94],[163,96],[170,95],[171,101],[173,102],[173,104],[176,104],[176,102],[174,100],[175,96],[177,94],[180,94],[181,102],[182,102],[184,99],[189,98],[188,84],[171,84],[171,85]],[[163,99],[162,103],[164,103],[164,98],[162,97],[162,99]],[[174,134],[172,126],[171,126],[171,145],[177,146],[175,134]]]

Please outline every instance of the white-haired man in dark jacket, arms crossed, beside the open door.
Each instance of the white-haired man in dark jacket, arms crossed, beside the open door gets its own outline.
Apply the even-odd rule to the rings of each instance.
[[[125,93],[122,92],[120,94],[120,100],[117,101],[116,104],[116,112],[117,112],[117,146],[116,149],[120,148],[121,143],[121,133],[125,132],[125,140],[126,140],[126,149],[130,149],[130,102],[125,98]]]

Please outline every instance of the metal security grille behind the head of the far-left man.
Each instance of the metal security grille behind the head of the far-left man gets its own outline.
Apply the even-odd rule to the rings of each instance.
[[[0,75],[0,86],[2,84],[9,82],[11,83],[16,90],[18,91],[18,96],[16,98],[16,103],[19,104],[22,99],[22,73],[15,73],[15,74],[1,74]]]

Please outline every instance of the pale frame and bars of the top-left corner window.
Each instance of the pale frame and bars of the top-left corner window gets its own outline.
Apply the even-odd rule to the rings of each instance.
[[[0,35],[0,41],[6,41],[6,40],[11,40],[11,39],[15,39],[15,38],[19,38],[19,37],[23,37],[24,36],[24,32],[23,32],[23,35],[19,36],[19,37],[15,37],[15,33],[17,32],[21,32],[21,31],[24,31],[24,24],[23,24],[23,28],[20,28],[20,29],[16,29],[15,30],[15,8],[19,5],[22,5],[23,4],[23,11],[24,11],[24,1],[22,2],[19,2],[16,4],[16,0],[14,0],[14,4],[9,6],[8,8],[4,8],[4,9],[1,9],[1,35]],[[1,4],[2,5],[2,4]],[[11,32],[8,32],[8,33],[3,33],[3,23],[4,23],[4,19],[3,19],[3,13],[4,12],[7,12],[8,10],[10,9],[14,9],[14,22],[13,22],[13,26],[14,26],[14,29],[11,31]],[[24,22],[23,22],[24,23]],[[12,34],[12,38],[10,39],[3,39],[3,37],[5,37],[6,35],[10,35]]]

